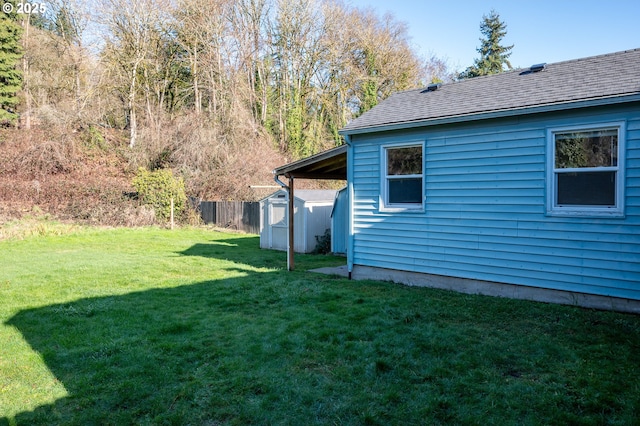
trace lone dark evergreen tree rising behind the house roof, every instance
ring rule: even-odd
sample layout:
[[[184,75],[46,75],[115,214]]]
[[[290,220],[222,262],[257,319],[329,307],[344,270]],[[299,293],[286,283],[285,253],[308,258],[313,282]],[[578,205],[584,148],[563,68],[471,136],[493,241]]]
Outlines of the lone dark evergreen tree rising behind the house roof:
[[[507,34],[507,24],[500,21],[500,15],[492,10],[489,16],[482,17],[480,32],[484,38],[480,39],[480,47],[477,49],[480,58],[474,64],[458,75],[459,79],[478,77],[481,75],[499,74],[507,69],[512,69],[509,62],[511,46],[502,46],[500,41]]]

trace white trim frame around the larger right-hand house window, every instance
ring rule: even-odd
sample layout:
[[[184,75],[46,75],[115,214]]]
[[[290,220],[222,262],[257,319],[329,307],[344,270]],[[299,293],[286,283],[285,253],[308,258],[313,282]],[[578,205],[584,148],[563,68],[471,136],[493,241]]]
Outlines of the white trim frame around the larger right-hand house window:
[[[626,153],[626,123],[624,121],[585,124],[547,129],[547,214],[550,216],[575,217],[624,217],[625,194],[625,153]],[[558,206],[556,200],[556,168],[555,168],[555,134],[572,131],[589,130],[618,130],[618,165],[616,167],[594,167],[594,171],[616,172],[616,204],[615,206]],[[574,169],[562,169],[570,172]],[[575,171],[584,171],[584,168]]]

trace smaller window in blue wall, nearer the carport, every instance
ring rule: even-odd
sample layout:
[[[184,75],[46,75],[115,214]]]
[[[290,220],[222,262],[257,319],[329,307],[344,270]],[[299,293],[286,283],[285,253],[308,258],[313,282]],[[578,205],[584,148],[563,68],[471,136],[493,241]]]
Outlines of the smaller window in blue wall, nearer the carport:
[[[383,147],[383,209],[422,209],[422,150],[422,144]]]

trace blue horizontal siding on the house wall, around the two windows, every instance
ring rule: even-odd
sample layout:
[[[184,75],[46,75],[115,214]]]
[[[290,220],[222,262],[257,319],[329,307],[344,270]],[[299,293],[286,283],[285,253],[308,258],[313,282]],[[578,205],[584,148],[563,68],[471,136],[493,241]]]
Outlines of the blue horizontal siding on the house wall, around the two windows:
[[[640,299],[640,108],[354,138],[355,264]],[[546,215],[547,129],[625,121],[624,218]],[[380,146],[425,142],[425,209],[381,212]]]

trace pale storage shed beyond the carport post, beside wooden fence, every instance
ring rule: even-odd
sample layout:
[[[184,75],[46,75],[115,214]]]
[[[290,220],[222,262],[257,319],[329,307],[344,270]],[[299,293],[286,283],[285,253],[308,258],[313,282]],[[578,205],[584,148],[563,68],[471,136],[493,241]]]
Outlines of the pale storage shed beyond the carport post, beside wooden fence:
[[[311,253],[331,229],[335,190],[297,190],[294,196],[294,251]],[[278,190],[260,201],[260,248],[286,250],[288,241],[287,191]]]

